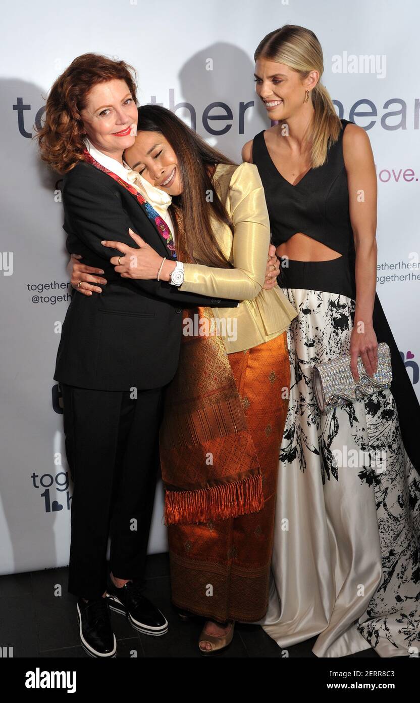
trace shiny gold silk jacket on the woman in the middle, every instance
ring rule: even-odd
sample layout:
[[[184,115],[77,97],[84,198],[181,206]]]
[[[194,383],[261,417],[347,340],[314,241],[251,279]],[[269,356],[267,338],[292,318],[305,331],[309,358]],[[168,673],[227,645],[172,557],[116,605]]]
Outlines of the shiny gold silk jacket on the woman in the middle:
[[[226,352],[231,354],[278,337],[297,316],[297,311],[278,285],[271,290],[262,288],[270,224],[257,167],[246,162],[239,166],[219,164],[212,181],[231,217],[234,234],[227,225],[217,221],[213,231],[234,269],[184,264],[184,281],[179,290],[242,301],[237,308],[212,308],[215,318],[221,321],[219,333]],[[198,256],[195,251],[193,254]],[[226,325],[226,320],[230,326]],[[232,334],[233,329],[236,335]]]

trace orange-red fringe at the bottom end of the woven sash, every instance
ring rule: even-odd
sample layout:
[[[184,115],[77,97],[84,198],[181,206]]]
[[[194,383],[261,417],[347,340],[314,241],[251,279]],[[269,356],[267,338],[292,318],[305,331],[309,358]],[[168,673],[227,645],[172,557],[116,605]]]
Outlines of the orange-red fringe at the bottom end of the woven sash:
[[[165,525],[226,520],[264,508],[262,474],[197,491],[165,491]]]

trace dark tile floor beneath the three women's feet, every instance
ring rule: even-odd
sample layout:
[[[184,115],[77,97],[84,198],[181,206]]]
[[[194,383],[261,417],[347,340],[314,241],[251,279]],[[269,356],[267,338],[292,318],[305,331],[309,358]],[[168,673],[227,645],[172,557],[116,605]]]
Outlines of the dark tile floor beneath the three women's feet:
[[[62,595],[55,595],[60,592]],[[160,607],[169,621],[162,637],[137,633],[121,615],[112,612],[117,657],[198,657],[199,618],[183,622],[170,602],[168,554],[149,555],[145,595]],[[79,644],[76,597],[67,593],[67,568],[45,569],[0,576],[2,645],[13,647],[13,657],[83,657]],[[316,638],[288,648],[288,656],[311,657]],[[258,625],[236,624],[233,642],[223,658],[282,657],[280,647]],[[365,650],[352,657],[377,657]]]

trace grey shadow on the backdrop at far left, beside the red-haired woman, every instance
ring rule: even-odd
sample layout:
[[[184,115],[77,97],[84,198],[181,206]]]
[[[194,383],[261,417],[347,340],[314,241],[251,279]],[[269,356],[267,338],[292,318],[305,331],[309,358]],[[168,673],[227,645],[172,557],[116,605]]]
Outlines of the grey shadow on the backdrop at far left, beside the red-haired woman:
[[[41,162],[32,138],[34,122],[39,124],[43,114],[45,95],[46,90],[32,82],[14,77],[0,82],[2,249],[13,252],[15,259],[13,276],[0,280],[1,297],[6,301],[0,568],[8,573],[57,565],[57,540],[66,529],[61,516],[46,516],[41,497],[50,485],[50,476],[67,470],[64,447],[57,440],[49,377],[43,382],[44,359],[49,368],[50,340],[56,339],[51,330],[57,313],[53,307],[34,306],[27,290],[28,283],[60,280],[57,254],[65,252],[62,207],[54,202],[60,176]],[[54,465],[57,451],[62,451],[62,466]],[[41,476],[45,476],[42,485]],[[60,497],[55,484],[50,496],[51,505]]]

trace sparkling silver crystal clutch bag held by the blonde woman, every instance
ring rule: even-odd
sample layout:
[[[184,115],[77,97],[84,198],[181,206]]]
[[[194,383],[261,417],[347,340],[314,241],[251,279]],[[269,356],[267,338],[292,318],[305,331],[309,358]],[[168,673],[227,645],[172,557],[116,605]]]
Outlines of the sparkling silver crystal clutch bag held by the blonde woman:
[[[321,413],[329,413],[346,403],[363,400],[377,390],[388,388],[392,381],[391,354],[386,342],[378,344],[378,365],[368,376],[361,357],[358,357],[359,381],[355,381],[350,368],[350,354],[337,359],[316,363],[312,370],[313,391]]]

